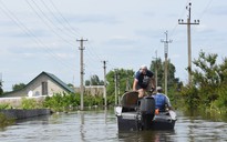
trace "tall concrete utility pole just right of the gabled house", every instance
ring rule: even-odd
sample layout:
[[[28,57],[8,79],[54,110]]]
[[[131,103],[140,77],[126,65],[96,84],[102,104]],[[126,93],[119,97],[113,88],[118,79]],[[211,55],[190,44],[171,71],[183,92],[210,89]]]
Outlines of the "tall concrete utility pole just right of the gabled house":
[[[83,75],[84,75],[84,68],[83,68],[83,50],[85,50],[85,48],[83,47],[83,42],[87,41],[84,40],[83,38],[81,38],[80,40],[76,40],[81,43],[81,47],[79,48],[79,50],[81,50],[81,111],[83,111],[83,92],[84,92],[84,87],[83,87]]]

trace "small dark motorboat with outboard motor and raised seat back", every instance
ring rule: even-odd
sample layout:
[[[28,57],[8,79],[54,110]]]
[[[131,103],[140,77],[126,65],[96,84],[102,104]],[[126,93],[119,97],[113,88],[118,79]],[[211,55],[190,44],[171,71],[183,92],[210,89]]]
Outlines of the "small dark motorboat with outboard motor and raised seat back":
[[[157,112],[152,94],[138,99],[135,91],[122,95],[115,115],[120,131],[174,130],[177,120],[173,110]]]

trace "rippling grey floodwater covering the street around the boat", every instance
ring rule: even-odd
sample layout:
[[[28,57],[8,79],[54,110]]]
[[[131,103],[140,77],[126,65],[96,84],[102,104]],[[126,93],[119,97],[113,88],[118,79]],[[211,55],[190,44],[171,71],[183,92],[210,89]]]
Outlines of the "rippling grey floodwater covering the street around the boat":
[[[0,130],[0,142],[223,142],[227,123],[177,112],[173,131],[118,132],[111,110],[59,113],[18,121]]]

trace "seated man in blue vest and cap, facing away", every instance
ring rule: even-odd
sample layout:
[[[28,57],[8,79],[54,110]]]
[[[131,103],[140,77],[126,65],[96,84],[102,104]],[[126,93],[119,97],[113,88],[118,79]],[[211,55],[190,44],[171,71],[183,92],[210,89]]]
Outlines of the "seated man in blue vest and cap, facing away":
[[[158,112],[164,112],[166,111],[167,105],[167,109],[172,110],[169,99],[167,95],[163,94],[163,89],[161,87],[157,87],[156,90],[157,93],[153,95],[155,99],[155,109],[158,110]]]

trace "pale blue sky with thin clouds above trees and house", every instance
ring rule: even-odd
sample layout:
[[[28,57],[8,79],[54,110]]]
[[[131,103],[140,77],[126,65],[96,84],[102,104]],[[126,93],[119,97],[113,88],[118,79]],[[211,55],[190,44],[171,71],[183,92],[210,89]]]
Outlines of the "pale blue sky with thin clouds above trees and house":
[[[168,58],[176,77],[187,81],[186,6],[192,2],[193,59],[200,50],[226,57],[227,2],[225,0],[0,0],[0,72],[3,90],[28,83],[42,71],[65,83],[80,84],[80,42],[84,42],[84,80],[92,74],[103,79],[115,68],[149,67],[157,57],[164,60],[165,31]]]

